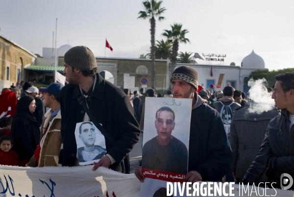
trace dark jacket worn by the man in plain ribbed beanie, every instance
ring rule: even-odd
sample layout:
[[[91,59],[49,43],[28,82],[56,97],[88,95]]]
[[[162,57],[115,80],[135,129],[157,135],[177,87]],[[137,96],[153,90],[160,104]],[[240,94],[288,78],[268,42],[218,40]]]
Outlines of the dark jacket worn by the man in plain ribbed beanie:
[[[86,99],[90,111],[102,127],[109,132],[116,143],[106,140],[106,150],[116,162],[110,165],[112,170],[129,173],[128,153],[140,138],[140,129],[136,121],[129,97],[124,92],[105,81],[97,74],[97,82],[91,95]],[[60,94],[61,137],[63,150],[59,154],[62,166],[73,166],[76,159],[75,126],[83,122],[85,111],[79,105],[77,97],[81,91],[77,85],[66,85]],[[91,121],[91,119],[90,119]]]

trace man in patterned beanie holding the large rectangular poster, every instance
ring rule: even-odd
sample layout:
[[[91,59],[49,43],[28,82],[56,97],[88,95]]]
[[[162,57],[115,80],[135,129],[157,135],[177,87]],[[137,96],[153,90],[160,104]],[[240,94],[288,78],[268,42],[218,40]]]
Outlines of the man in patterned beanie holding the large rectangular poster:
[[[176,68],[170,81],[174,98],[192,99],[188,174],[184,181],[220,181],[230,170],[232,161],[221,116],[197,95],[198,73],[194,68]],[[143,182],[145,176],[141,169],[138,167],[135,175]]]

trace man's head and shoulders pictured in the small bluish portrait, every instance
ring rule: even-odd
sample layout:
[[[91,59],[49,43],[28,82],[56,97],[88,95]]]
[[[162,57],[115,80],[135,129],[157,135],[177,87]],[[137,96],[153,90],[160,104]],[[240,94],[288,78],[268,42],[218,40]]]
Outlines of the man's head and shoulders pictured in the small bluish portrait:
[[[77,149],[79,162],[100,159],[105,155],[106,150],[95,145],[96,131],[91,122],[83,122],[79,127],[79,138],[85,144],[84,147]]]

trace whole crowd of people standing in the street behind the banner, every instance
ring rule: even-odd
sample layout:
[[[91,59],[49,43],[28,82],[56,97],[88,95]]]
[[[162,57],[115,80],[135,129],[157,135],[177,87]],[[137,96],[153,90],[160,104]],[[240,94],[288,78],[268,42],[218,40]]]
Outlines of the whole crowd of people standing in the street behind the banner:
[[[13,100],[7,103],[15,107],[0,119],[0,164],[78,166],[75,127],[91,121],[106,144],[106,154],[93,163],[92,170],[103,166],[128,174],[128,153],[144,131],[145,98],[190,98],[185,181],[276,182],[273,186],[279,188],[283,173],[294,176],[294,73],[277,75],[273,89],[263,87],[262,91],[271,92],[275,107],[257,113],[250,112],[254,105],[250,95],[247,98],[240,90],[198,86],[198,73],[189,66],[172,72],[172,89],[165,95],[154,89],[130,94],[129,89],[104,80],[86,46],[71,48],[64,56],[64,66],[66,86],[52,83],[38,89],[22,82],[2,90],[1,95]],[[135,175],[144,181],[139,164]]]

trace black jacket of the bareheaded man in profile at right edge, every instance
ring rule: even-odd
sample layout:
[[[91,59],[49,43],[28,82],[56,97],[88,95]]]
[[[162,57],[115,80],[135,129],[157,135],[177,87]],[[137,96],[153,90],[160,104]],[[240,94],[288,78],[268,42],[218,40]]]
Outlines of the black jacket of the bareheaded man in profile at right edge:
[[[265,170],[270,182],[280,185],[280,176],[290,174],[294,178],[294,126],[289,131],[289,111],[270,120],[260,151],[247,170],[244,179],[256,183]]]

